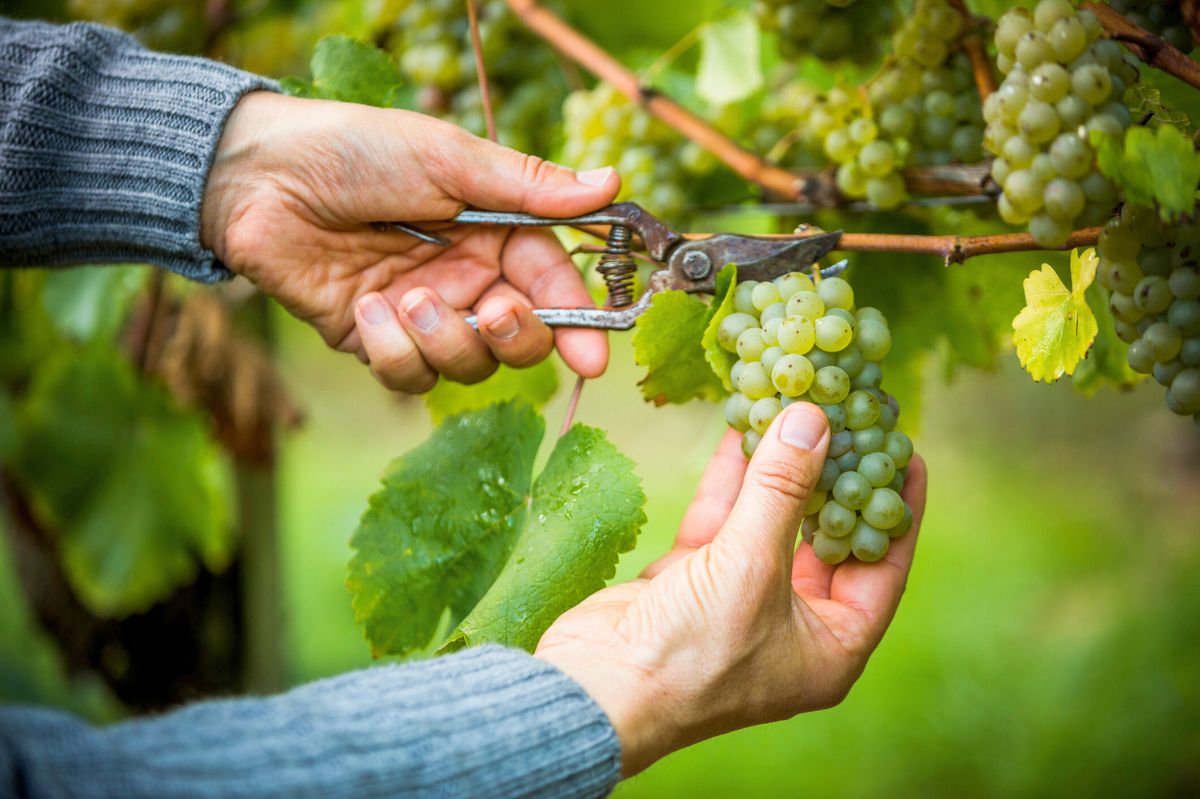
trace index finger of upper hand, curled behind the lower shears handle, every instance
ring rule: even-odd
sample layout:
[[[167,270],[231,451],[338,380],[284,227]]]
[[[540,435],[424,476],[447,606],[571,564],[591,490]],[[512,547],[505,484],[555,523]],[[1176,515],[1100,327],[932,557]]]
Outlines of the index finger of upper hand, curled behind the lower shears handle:
[[[595,307],[580,270],[548,230],[514,230],[500,254],[500,271],[534,307]],[[608,336],[602,330],[558,328],[554,347],[581,377],[600,377],[608,366]]]

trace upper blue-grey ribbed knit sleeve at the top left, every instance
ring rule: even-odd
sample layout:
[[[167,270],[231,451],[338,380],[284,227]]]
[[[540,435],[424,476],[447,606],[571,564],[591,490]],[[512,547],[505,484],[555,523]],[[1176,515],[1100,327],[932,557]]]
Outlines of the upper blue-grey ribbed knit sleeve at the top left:
[[[0,18],[0,266],[229,277],[200,246],[204,182],[238,100],[274,88],[108,28]]]

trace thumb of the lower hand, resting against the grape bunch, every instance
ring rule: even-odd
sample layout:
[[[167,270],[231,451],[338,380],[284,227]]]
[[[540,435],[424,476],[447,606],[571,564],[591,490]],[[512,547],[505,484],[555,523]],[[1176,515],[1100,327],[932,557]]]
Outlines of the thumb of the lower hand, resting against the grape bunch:
[[[821,477],[829,421],[808,402],[780,411],[746,468],[742,493],[721,530],[755,557],[791,563],[804,506]]]

